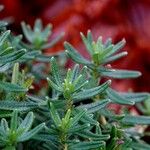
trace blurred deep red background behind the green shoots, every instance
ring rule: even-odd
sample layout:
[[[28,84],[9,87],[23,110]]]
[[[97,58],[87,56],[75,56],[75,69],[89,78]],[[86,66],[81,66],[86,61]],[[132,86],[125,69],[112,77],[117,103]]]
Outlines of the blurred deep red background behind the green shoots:
[[[65,32],[65,36],[47,53],[63,50],[63,41],[73,44],[86,55],[79,32],[90,29],[96,39],[111,37],[113,42],[127,41],[128,56],[113,63],[115,68],[134,69],[142,76],[134,80],[115,80],[113,86],[120,91],[150,92],[150,0],[0,0],[5,9],[0,18],[11,22],[14,34],[22,33],[20,22],[33,25],[35,19],[53,25],[52,38]]]

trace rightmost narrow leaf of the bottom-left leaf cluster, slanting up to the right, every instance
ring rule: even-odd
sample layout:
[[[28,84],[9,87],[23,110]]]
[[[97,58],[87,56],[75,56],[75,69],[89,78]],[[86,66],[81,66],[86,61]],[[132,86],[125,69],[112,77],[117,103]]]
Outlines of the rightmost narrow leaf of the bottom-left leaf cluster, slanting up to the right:
[[[43,128],[45,127],[45,123],[41,123],[38,126],[36,126],[35,128],[33,128],[32,130],[24,133],[23,135],[21,135],[18,138],[18,142],[23,142],[23,141],[27,141],[30,138],[32,138],[33,136],[35,136],[35,134],[37,134],[39,131],[41,131]]]

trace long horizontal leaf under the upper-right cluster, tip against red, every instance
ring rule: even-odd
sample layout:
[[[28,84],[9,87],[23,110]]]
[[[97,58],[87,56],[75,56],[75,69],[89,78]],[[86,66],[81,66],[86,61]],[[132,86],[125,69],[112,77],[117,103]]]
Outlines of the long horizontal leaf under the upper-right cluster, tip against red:
[[[129,70],[120,70],[120,69],[104,69],[100,68],[99,73],[101,76],[111,77],[115,79],[128,79],[128,78],[137,78],[141,76],[139,71],[129,71]]]

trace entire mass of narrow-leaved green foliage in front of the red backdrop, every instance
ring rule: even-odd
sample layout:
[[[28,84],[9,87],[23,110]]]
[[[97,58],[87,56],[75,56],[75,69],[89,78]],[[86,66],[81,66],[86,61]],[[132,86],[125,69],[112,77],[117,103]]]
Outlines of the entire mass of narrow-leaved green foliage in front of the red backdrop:
[[[119,52],[124,39],[117,44],[111,39],[103,42],[101,37],[94,41],[88,31],[87,37],[81,33],[81,38],[90,60],[68,42],[64,43],[65,53],[46,56],[43,50],[62,37],[60,34],[48,42],[50,25],[43,29],[38,19],[32,30],[23,22],[27,42],[14,36],[6,25],[0,22],[1,149],[150,149],[143,138],[150,125],[149,93],[116,91],[108,79],[141,75],[138,71],[106,67],[127,55]],[[65,54],[77,63],[72,68],[66,69],[61,63],[66,60]],[[104,78],[108,80],[102,82]],[[47,85],[42,85],[41,80]],[[36,89],[37,85],[40,89]],[[112,103],[121,106],[121,113],[109,108]],[[129,105],[135,105],[143,115],[132,115]]]

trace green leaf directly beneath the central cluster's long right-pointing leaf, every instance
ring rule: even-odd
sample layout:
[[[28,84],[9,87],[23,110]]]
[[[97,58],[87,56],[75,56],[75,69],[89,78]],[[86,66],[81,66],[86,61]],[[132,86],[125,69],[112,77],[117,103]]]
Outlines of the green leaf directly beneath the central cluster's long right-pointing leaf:
[[[106,107],[110,103],[109,99],[96,101],[90,104],[81,105],[79,108],[86,108],[88,113],[94,113],[104,107]]]

